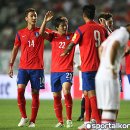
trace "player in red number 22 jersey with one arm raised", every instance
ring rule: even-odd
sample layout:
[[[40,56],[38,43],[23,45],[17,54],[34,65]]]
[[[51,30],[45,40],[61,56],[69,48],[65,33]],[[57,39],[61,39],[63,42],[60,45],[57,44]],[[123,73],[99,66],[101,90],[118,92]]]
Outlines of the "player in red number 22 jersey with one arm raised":
[[[52,45],[52,62],[51,62],[51,90],[54,97],[54,110],[58,119],[58,124],[55,127],[64,127],[62,115],[61,92],[63,90],[66,106],[66,127],[70,128],[72,124],[72,97],[71,85],[73,77],[73,57],[74,51],[65,57],[60,54],[64,52],[67,45],[73,36],[73,33],[68,33],[68,21],[65,17],[57,17],[54,21],[56,31],[46,32],[46,24],[52,19],[52,12],[48,11],[45,14],[43,23],[40,28],[40,34],[51,42]]]

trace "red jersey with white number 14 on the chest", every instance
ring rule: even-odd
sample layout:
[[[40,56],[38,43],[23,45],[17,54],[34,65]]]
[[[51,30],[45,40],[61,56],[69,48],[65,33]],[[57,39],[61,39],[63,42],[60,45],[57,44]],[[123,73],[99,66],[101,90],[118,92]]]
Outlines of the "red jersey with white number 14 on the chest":
[[[39,28],[21,29],[15,37],[16,46],[21,46],[20,69],[43,69],[44,39],[39,35]]]

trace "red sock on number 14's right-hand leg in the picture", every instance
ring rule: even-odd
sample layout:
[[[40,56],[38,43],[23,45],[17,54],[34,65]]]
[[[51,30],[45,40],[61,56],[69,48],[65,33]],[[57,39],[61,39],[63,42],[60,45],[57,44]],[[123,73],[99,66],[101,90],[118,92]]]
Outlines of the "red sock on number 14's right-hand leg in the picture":
[[[32,113],[30,122],[35,123],[39,108],[39,94],[32,94]]]

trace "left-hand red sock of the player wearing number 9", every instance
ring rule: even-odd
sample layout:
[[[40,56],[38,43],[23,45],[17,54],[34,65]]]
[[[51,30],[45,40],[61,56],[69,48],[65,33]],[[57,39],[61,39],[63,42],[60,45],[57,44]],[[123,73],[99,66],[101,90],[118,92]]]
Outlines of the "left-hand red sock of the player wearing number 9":
[[[89,100],[88,96],[85,96],[85,112],[86,112],[85,121],[90,121],[90,118],[91,118],[91,106],[90,106],[90,100]]]

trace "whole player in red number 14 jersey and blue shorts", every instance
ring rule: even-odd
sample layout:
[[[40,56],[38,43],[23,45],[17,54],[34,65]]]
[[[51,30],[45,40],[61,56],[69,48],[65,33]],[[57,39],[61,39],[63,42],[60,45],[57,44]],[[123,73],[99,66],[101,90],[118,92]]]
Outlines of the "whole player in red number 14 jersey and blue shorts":
[[[17,76],[18,86],[18,107],[21,113],[19,127],[25,126],[28,122],[26,114],[26,100],[24,97],[25,88],[30,81],[32,90],[32,111],[28,127],[35,127],[35,121],[39,109],[39,90],[44,89],[44,38],[39,35],[36,27],[37,13],[33,8],[25,11],[27,27],[16,33],[14,47],[10,58],[9,76],[13,77],[13,65],[21,47],[21,57]]]

